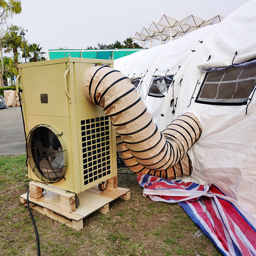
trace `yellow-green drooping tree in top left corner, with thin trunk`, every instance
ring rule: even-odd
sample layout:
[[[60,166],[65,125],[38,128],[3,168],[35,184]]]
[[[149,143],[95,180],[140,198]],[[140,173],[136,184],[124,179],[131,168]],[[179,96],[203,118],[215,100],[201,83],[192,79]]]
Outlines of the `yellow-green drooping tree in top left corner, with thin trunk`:
[[[0,25],[6,23],[7,18],[12,18],[14,14],[21,12],[21,1],[20,0],[0,0]],[[0,66],[0,87],[3,87],[3,51],[2,51],[2,39],[3,35],[0,34],[0,53],[1,53],[1,66]]]

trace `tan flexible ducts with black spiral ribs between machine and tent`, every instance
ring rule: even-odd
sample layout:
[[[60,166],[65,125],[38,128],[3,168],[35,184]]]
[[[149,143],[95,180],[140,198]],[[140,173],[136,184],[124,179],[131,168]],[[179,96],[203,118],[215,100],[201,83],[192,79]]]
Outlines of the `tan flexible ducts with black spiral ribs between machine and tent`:
[[[134,173],[166,179],[191,174],[187,151],[201,135],[194,114],[179,116],[161,133],[129,78],[109,66],[88,68],[82,90],[89,102],[103,107],[110,117],[117,152]]]

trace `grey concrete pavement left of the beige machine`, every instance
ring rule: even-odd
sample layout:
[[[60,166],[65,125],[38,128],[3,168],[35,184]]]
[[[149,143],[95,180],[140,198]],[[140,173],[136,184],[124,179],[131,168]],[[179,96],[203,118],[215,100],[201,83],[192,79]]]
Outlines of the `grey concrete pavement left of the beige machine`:
[[[20,107],[0,109],[0,156],[26,154]]]

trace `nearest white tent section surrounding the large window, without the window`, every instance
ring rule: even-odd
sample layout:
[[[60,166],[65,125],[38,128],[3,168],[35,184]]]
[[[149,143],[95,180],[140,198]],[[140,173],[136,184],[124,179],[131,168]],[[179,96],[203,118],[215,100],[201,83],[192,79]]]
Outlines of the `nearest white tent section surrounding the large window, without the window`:
[[[195,99],[206,73],[199,69],[225,67],[232,65],[232,61],[239,64],[255,58],[255,8],[256,1],[250,1],[216,25],[188,65],[181,66],[174,77],[174,88],[180,88],[174,91],[174,98],[178,97],[175,114],[171,113],[169,101],[173,95],[168,91],[161,109],[164,117],[158,121],[162,129],[184,111],[194,113],[203,132],[188,152],[193,173],[184,180],[201,184],[212,182],[252,214],[256,214],[255,89],[245,105],[200,104]],[[182,78],[181,86],[177,77]]]

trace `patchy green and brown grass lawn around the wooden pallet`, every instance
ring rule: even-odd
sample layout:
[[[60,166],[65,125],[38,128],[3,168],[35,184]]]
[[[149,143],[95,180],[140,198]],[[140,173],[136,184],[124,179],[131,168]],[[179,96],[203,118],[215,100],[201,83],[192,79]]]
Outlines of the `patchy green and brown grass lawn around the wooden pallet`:
[[[118,172],[130,172],[121,168]],[[25,155],[0,157],[0,255],[37,255],[36,235],[19,196],[28,189]],[[191,255],[221,253],[181,206],[142,196],[137,175],[118,175],[118,185],[131,189],[131,199],[110,203],[110,212],[95,212],[75,231],[32,209],[41,255]]]

